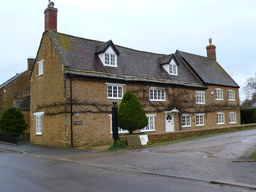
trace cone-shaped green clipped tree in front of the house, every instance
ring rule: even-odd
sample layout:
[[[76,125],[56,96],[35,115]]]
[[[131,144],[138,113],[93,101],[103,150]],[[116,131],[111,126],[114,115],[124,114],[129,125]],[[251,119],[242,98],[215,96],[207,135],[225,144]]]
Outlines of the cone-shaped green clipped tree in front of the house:
[[[118,109],[118,126],[132,134],[147,125],[148,118],[140,101],[132,92],[126,92]]]

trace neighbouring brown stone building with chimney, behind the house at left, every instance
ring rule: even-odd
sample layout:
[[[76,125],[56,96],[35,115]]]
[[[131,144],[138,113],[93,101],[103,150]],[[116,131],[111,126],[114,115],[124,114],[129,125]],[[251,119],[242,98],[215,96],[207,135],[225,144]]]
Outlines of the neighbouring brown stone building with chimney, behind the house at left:
[[[0,117],[3,112],[12,106],[15,93],[26,90],[30,86],[30,73],[35,59],[28,58],[28,69],[17,73],[14,77],[0,85]]]

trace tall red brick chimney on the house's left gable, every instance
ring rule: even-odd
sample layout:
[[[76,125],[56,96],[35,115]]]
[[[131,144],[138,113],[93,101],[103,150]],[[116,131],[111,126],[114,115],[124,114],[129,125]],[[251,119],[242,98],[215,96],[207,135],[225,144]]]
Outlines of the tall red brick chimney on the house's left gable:
[[[49,1],[48,7],[44,10],[44,31],[48,29],[57,31],[57,12],[58,9],[54,8],[54,2]]]

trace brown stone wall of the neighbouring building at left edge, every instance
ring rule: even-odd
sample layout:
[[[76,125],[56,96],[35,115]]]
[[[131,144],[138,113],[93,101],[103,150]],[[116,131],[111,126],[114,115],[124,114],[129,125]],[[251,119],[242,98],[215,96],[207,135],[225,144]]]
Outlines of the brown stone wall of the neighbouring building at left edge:
[[[14,95],[30,86],[30,70],[0,89],[0,117],[3,112],[12,106]]]

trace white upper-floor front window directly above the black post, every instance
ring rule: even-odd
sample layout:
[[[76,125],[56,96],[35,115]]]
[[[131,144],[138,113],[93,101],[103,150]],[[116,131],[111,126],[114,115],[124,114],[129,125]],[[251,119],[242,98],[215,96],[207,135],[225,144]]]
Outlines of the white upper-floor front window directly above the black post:
[[[125,84],[106,83],[108,89],[108,99],[122,99]]]

